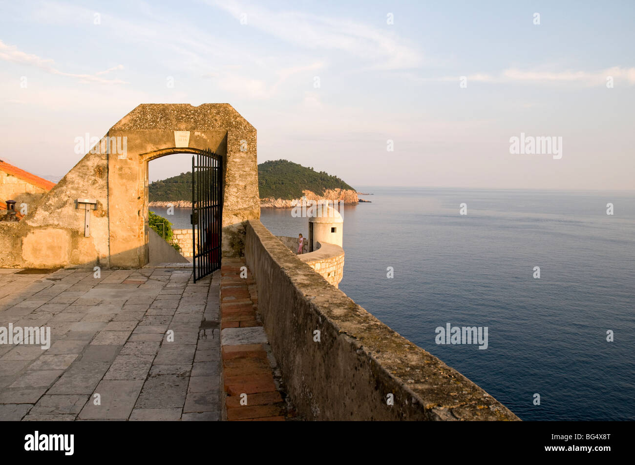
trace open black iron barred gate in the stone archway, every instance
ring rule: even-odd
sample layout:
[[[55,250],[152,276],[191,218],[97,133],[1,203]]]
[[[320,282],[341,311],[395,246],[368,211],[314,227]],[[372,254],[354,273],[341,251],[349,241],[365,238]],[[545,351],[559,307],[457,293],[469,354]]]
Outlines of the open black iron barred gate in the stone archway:
[[[195,160],[196,159],[196,160]],[[220,269],[222,159],[210,149],[192,156],[192,256],[194,282]]]

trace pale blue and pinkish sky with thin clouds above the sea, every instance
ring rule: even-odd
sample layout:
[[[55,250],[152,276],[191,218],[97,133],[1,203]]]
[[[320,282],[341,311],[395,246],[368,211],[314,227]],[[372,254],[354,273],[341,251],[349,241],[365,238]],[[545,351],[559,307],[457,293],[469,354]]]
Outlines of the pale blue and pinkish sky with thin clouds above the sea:
[[[635,190],[634,26],[632,1],[0,1],[0,159],[63,176],[140,103],[227,102],[258,162],[353,186]]]

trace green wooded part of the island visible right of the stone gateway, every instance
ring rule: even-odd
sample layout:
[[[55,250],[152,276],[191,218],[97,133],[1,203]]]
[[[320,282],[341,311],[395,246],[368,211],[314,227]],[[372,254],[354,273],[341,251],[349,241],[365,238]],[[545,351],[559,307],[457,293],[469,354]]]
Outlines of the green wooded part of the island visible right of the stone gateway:
[[[325,171],[317,173],[288,160],[268,161],[258,165],[258,189],[260,198],[299,199],[303,190],[322,195],[326,189],[351,189],[337,176]]]

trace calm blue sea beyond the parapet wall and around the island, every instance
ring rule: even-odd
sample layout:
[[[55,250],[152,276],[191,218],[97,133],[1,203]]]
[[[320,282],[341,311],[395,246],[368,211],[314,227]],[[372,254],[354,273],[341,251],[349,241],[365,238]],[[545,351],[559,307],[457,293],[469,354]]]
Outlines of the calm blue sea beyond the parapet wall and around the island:
[[[635,192],[357,188],[371,202],[340,210],[356,303],[523,420],[635,419]],[[291,209],[261,221],[308,233]],[[440,343],[448,324],[487,347]]]

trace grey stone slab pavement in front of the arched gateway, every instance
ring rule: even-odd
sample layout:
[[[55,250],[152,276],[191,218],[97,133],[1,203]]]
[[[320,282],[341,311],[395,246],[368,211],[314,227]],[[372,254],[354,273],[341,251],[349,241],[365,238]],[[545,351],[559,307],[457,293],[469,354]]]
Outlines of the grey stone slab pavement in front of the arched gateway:
[[[0,420],[220,419],[220,272],[0,269]],[[6,330],[4,330],[6,334]]]

